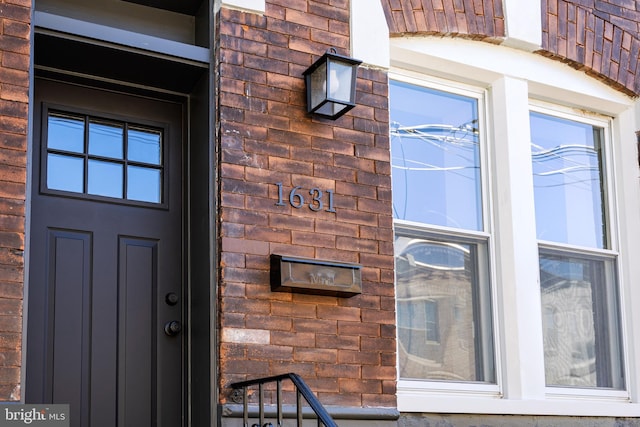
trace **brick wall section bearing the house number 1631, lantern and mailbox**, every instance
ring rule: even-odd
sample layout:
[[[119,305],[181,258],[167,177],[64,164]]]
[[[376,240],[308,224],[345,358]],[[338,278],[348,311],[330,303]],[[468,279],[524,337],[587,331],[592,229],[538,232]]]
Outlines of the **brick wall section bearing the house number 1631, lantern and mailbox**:
[[[348,0],[223,8],[219,26],[222,400],[233,381],[296,372],[325,405],[395,407],[386,73],[361,67],[358,105],[312,119],[302,72],[349,54]],[[334,191],[336,212],[291,207],[294,186]],[[270,254],[359,263],[363,293],[271,292]]]

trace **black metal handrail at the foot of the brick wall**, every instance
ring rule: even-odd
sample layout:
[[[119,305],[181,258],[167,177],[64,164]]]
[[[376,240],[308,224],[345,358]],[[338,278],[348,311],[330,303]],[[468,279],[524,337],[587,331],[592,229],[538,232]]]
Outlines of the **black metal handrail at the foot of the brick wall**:
[[[293,385],[296,387],[296,417],[298,420],[298,427],[302,427],[302,398],[304,398],[304,400],[307,402],[309,407],[311,407],[313,412],[316,414],[316,417],[318,418],[318,427],[320,427],[320,425],[324,425],[325,427],[338,427],[338,425],[335,423],[331,415],[329,415],[325,407],[322,406],[322,403],[320,403],[316,395],[313,394],[313,392],[311,391],[307,383],[304,382],[304,380],[300,377],[300,375],[294,374],[294,373],[276,375],[276,376],[265,377],[265,378],[257,378],[253,380],[241,381],[241,382],[231,384],[231,388],[236,390],[242,389],[242,392],[243,392],[242,405],[243,405],[244,427],[249,427],[249,406],[247,403],[248,401],[247,388],[255,385],[258,386],[258,393],[259,393],[258,399],[259,399],[259,405],[260,405],[260,408],[259,408],[260,427],[263,427],[265,424],[263,385],[266,383],[272,383],[272,382],[275,382],[277,387],[276,398],[277,398],[277,405],[278,405],[278,412],[277,412],[278,427],[282,427],[282,422],[283,422],[282,381],[283,380],[290,380],[293,383]]]

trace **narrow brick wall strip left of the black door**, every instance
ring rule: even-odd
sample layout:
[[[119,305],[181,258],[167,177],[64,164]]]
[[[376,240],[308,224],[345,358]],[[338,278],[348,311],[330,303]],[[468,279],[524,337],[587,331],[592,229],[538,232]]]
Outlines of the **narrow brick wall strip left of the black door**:
[[[0,400],[20,399],[30,0],[0,0]]]

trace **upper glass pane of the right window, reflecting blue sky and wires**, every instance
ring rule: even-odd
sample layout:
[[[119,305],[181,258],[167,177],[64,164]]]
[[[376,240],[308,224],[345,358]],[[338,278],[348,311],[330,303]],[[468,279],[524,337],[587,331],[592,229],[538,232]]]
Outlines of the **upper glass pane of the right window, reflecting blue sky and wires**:
[[[603,129],[531,113],[538,239],[605,248]]]

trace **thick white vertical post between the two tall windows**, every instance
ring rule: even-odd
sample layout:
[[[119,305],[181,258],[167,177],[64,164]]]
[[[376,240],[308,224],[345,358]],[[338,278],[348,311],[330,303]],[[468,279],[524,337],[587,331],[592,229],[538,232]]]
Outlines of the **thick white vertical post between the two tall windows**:
[[[544,398],[538,249],[528,85],[503,77],[491,91],[497,316],[505,397]]]

